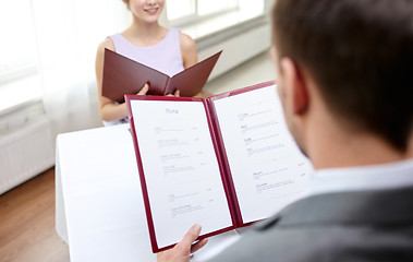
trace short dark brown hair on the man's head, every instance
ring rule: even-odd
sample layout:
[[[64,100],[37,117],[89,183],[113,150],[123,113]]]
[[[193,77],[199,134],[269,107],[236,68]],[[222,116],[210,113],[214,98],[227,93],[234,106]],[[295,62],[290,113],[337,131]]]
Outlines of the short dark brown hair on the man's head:
[[[277,0],[272,41],[329,109],[405,151],[413,129],[413,0]]]

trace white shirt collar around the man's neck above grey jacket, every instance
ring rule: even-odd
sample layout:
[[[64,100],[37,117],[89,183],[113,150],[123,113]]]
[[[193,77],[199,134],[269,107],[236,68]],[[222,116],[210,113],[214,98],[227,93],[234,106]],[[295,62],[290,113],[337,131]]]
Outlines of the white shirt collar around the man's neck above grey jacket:
[[[311,175],[308,195],[413,186],[413,159],[391,164],[320,169]]]

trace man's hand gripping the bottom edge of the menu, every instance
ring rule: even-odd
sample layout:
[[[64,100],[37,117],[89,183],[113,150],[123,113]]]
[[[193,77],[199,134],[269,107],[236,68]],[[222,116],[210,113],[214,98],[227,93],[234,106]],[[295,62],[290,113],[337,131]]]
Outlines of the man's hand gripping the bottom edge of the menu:
[[[205,238],[198,242],[193,242],[198,238],[201,233],[201,225],[195,224],[183,237],[181,242],[177,243],[172,249],[159,252],[157,254],[158,262],[187,262],[191,259],[191,254],[202,249],[208,239]]]

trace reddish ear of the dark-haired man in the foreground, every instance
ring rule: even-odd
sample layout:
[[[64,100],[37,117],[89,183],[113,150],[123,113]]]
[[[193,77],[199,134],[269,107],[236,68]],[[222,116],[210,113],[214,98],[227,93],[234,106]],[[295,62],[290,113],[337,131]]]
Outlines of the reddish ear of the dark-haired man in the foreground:
[[[283,73],[284,87],[288,88],[290,105],[293,112],[303,115],[309,105],[307,84],[300,67],[291,58],[282,58],[280,61]]]

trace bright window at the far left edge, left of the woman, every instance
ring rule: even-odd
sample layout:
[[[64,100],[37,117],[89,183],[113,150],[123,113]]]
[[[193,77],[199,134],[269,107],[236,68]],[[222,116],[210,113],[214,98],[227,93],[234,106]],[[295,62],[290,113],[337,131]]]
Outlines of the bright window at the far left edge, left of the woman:
[[[29,0],[0,1],[0,111],[41,96]]]

